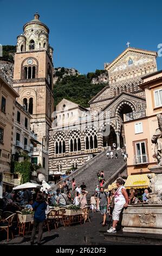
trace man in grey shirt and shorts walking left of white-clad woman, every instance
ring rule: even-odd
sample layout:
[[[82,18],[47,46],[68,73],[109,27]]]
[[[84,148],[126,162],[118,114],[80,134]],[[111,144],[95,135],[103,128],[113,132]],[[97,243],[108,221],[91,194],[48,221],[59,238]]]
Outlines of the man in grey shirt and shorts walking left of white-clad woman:
[[[97,208],[99,207],[99,201],[100,201],[100,211],[103,216],[102,226],[104,227],[106,225],[106,214],[109,208],[109,197],[108,197],[108,193],[103,191],[103,187],[100,187],[100,192],[98,194],[98,200],[97,200]]]

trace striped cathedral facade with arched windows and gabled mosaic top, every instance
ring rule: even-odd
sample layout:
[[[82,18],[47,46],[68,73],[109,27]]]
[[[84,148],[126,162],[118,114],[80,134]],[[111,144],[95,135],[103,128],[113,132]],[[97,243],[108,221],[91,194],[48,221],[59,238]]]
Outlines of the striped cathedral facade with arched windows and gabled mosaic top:
[[[124,118],[132,112],[145,116],[145,92],[139,84],[142,76],[157,71],[156,57],[156,52],[128,47],[105,64],[109,81],[89,108],[66,99],[57,105],[49,131],[49,175],[78,168],[113,143],[126,147]]]

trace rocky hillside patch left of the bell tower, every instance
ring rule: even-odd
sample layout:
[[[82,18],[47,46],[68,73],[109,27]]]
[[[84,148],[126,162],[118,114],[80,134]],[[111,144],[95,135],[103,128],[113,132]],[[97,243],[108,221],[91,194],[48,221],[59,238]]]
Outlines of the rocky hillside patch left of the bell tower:
[[[14,63],[0,60],[0,75],[5,81],[12,84],[14,77]]]

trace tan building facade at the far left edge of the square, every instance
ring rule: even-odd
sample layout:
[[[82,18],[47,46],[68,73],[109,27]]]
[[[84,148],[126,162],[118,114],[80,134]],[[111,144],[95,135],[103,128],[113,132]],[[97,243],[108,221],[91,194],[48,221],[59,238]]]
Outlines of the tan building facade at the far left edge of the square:
[[[3,190],[10,187],[10,164],[13,147],[14,136],[14,112],[15,100],[18,94],[15,90],[5,82],[0,76],[0,196]]]

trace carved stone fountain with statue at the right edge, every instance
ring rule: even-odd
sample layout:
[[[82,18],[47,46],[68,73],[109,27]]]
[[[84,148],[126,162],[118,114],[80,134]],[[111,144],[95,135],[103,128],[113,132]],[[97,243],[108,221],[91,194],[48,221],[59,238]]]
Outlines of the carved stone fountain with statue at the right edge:
[[[123,231],[135,233],[162,234],[162,115],[157,115],[159,128],[152,137],[157,165],[147,174],[151,193],[147,194],[148,204],[128,205],[122,217]]]

